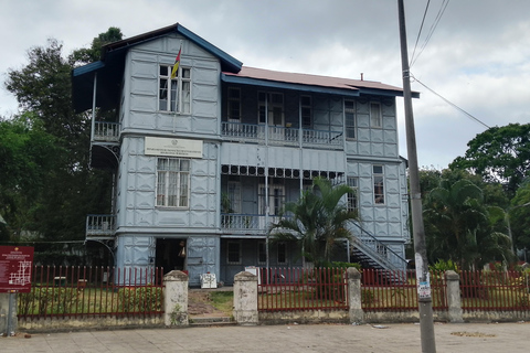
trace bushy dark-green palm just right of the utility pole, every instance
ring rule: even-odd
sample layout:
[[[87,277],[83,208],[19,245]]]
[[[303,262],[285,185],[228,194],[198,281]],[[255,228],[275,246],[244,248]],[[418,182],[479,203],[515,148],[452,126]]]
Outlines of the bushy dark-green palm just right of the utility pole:
[[[468,180],[443,180],[426,197],[424,218],[432,259],[476,269],[494,259],[512,258],[509,237],[500,232],[504,211],[486,206],[483,191]]]

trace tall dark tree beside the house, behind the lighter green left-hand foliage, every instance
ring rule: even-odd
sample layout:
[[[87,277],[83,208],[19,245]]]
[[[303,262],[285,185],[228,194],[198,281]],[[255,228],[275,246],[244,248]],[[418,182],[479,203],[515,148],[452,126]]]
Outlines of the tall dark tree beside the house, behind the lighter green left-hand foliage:
[[[35,229],[44,239],[82,239],[86,214],[109,211],[112,175],[88,167],[92,114],[74,113],[71,72],[74,65],[98,57],[103,44],[120,39],[121,32],[112,28],[94,39],[89,50],[75,51],[68,58],[63,57],[60,42],[50,40],[46,46],[30,49],[25,66],[8,72],[4,85],[17,97],[22,115],[30,115],[42,132],[53,137],[53,149],[43,147],[43,158],[35,162],[34,169],[43,173],[38,176],[19,173],[15,178],[20,185],[36,183],[39,192],[20,189],[21,200],[29,201],[23,210],[19,206],[10,211],[31,214],[28,217],[31,223],[26,222],[24,229]],[[96,114],[107,113],[98,110]],[[44,160],[50,154],[47,151],[54,153],[51,158],[53,169],[43,167],[49,162]],[[0,193],[9,191],[3,185],[0,188]],[[7,207],[3,201],[0,206]]]

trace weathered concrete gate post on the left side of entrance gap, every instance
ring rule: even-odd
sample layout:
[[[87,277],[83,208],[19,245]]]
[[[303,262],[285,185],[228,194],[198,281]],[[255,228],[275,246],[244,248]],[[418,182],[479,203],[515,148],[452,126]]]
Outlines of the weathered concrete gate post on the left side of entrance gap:
[[[187,327],[188,321],[188,275],[172,270],[163,276],[163,323],[167,327]]]

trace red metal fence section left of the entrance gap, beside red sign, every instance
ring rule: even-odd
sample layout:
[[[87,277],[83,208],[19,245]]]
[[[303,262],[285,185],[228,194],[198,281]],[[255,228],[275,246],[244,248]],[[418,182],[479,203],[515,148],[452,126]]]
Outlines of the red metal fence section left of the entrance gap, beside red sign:
[[[20,319],[162,314],[162,268],[34,266]]]

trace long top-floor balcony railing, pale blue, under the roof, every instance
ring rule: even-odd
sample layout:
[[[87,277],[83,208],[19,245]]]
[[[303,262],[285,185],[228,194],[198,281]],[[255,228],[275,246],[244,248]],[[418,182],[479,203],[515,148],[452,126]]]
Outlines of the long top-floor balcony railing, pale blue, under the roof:
[[[235,141],[265,140],[265,128],[268,129],[271,145],[298,146],[300,143],[300,130],[298,128],[279,126],[265,127],[264,125],[223,121],[222,135]],[[342,131],[301,129],[301,145],[333,149],[342,146]]]

